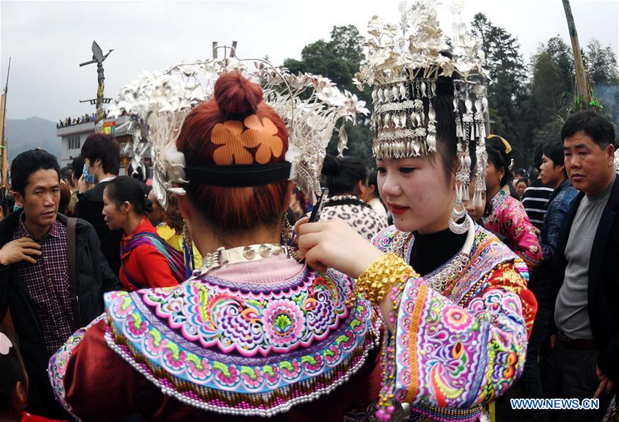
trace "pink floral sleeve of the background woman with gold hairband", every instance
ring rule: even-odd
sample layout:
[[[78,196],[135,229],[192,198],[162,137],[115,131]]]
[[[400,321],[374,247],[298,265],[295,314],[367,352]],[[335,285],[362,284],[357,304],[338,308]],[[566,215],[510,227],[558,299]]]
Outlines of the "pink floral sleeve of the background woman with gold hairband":
[[[542,249],[527,212],[517,200],[513,200],[503,210],[501,234],[510,240],[514,252],[521,257],[530,269],[539,265],[542,260]]]

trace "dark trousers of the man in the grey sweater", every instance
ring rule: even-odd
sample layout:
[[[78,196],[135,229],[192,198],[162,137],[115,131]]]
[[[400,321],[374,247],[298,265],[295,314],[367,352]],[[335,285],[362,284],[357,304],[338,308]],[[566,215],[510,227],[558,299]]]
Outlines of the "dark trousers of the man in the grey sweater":
[[[598,350],[571,350],[563,341],[556,340],[552,355],[549,397],[558,399],[591,399],[600,381],[596,375]],[[598,410],[558,410],[558,421],[601,421],[614,392],[600,397]]]

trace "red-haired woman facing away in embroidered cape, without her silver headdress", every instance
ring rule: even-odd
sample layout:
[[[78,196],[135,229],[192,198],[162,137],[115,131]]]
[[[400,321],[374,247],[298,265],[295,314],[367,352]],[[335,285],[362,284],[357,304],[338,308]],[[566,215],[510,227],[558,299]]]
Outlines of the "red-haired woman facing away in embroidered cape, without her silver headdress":
[[[260,87],[222,74],[176,147],[189,181],[178,206],[204,266],[176,288],[107,295],[107,323],[50,361],[61,403],[86,420],[342,421],[366,408],[380,321],[363,299],[345,306],[353,279],[311,271],[280,243],[288,132]]]

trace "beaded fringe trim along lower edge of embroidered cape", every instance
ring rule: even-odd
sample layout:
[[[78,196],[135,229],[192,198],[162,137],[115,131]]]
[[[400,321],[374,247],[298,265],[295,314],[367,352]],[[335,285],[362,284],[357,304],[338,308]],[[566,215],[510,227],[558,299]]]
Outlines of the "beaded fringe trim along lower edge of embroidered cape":
[[[179,379],[146,359],[133,348],[122,334],[114,328],[109,328],[109,326],[105,331],[105,341],[109,348],[160,388],[163,394],[174,397],[182,403],[221,414],[270,417],[281,412],[287,412],[294,405],[313,401],[346,383],[353,374],[364,366],[370,351],[379,346],[380,326],[380,319],[373,317],[363,343],[350,354],[346,361],[343,361],[331,371],[317,375],[313,379],[306,379],[276,389],[269,394],[242,394],[213,390]],[[193,397],[189,397],[189,395]],[[277,402],[280,403],[275,404]],[[238,405],[244,405],[244,407],[236,407]]]

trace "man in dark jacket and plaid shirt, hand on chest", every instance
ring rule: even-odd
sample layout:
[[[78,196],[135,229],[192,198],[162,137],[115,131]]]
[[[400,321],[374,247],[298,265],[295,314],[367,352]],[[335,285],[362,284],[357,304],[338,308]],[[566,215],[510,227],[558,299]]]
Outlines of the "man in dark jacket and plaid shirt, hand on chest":
[[[30,380],[28,409],[63,418],[48,379],[48,361],[76,328],[101,315],[103,293],[120,289],[120,284],[99,251],[93,227],[77,220],[74,251],[79,312],[74,313],[67,218],[58,213],[58,162],[47,151],[25,151],[12,162],[11,182],[23,211],[0,221],[0,321],[9,310]]]

